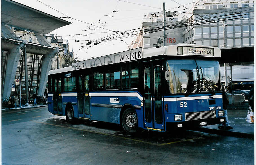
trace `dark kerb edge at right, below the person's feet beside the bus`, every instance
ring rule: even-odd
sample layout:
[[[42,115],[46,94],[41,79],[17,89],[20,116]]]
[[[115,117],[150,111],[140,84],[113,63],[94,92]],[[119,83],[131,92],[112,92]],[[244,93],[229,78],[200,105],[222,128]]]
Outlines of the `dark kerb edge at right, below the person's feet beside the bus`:
[[[251,138],[254,139],[254,134],[245,133],[245,132],[235,132],[233,130],[220,130],[220,129],[212,129],[212,128],[198,128],[198,131],[207,132],[212,134],[219,134],[224,136],[234,136],[234,137],[243,137],[243,138]]]

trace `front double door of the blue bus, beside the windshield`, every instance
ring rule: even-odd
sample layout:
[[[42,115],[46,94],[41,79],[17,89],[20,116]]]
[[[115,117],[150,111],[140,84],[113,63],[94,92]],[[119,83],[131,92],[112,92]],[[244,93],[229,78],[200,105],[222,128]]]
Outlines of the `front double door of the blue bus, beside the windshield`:
[[[164,129],[163,95],[160,62],[144,65],[144,119],[145,127]]]

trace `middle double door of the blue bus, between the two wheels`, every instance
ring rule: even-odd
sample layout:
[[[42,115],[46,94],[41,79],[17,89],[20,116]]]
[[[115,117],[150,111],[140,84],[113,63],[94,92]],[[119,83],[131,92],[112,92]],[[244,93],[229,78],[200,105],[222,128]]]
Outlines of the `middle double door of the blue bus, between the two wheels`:
[[[79,76],[79,118],[90,119],[89,75]]]

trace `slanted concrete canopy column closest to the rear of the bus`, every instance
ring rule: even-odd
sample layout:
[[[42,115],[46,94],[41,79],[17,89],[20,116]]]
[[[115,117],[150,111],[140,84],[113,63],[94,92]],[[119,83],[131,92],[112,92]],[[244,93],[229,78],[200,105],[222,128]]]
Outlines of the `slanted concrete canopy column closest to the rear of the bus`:
[[[59,52],[59,47],[46,54],[41,59],[41,69],[37,88],[37,95],[43,95],[45,92],[46,83],[48,81],[48,72],[51,68],[52,58]]]

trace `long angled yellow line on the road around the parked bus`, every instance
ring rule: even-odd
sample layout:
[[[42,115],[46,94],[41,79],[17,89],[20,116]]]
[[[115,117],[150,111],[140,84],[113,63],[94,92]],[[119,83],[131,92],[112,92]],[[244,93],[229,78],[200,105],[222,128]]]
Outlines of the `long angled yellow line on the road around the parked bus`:
[[[63,125],[56,125],[56,124],[50,124],[50,123],[45,123],[45,122],[37,122],[37,121],[31,121],[31,122],[40,123],[40,124],[46,124],[46,125],[53,125],[53,126],[69,128],[69,129],[76,129],[76,130],[91,132],[91,133],[95,133],[95,134],[101,134],[101,135],[112,136],[112,137],[116,137],[116,138],[132,140],[132,141],[135,141],[134,143],[147,143],[147,144],[151,144],[151,145],[155,145],[155,146],[164,146],[164,145],[173,144],[173,143],[180,143],[180,142],[183,142],[183,141],[191,141],[191,140],[195,140],[195,139],[204,139],[202,137],[198,137],[198,138],[193,138],[193,139],[184,139],[184,140],[181,140],[181,141],[173,141],[173,142],[169,142],[169,143],[156,144],[156,143],[151,143],[151,142],[137,140],[137,139],[125,138],[125,137],[122,137],[122,136],[116,136],[116,135],[110,135],[110,134],[105,134],[105,133],[100,133],[100,132],[93,132],[93,131],[90,131],[90,130],[84,130],[84,129],[73,128],[73,127],[67,127],[67,126],[63,126]]]

